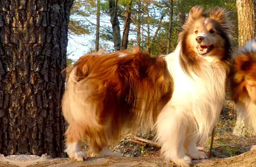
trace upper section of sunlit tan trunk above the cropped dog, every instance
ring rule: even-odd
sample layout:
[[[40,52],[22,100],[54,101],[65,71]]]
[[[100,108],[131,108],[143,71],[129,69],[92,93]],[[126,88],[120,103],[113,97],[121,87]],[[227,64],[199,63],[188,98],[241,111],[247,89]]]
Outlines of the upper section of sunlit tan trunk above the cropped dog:
[[[255,1],[237,0],[238,44],[243,46],[248,40],[255,38]]]

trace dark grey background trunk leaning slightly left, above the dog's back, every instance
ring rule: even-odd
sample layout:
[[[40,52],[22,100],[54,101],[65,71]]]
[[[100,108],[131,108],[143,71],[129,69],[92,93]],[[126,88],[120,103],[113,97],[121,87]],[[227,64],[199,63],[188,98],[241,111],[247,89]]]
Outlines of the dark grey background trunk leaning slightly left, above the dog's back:
[[[113,29],[113,42],[115,50],[121,49],[121,35],[120,27],[117,15],[117,2],[118,0],[109,0],[109,12],[110,12],[110,22]]]

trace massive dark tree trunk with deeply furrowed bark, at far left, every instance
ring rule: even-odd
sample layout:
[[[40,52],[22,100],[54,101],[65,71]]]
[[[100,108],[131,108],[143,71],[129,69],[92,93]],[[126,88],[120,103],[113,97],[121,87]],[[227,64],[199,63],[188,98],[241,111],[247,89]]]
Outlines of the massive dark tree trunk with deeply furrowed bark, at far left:
[[[65,156],[61,97],[72,0],[0,1],[0,153]]]

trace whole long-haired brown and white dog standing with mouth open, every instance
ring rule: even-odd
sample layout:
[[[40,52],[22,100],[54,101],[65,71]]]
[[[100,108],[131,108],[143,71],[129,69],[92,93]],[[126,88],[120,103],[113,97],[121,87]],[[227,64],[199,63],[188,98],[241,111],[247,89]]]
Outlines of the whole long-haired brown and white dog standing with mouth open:
[[[169,55],[121,50],[81,57],[69,72],[62,101],[69,157],[86,158],[83,139],[99,156],[115,156],[109,144],[128,126],[156,130],[161,152],[177,165],[207,158],[196,143],[208,138],[219,119],[230,68],[230,28],[224,9],[196,6]]]

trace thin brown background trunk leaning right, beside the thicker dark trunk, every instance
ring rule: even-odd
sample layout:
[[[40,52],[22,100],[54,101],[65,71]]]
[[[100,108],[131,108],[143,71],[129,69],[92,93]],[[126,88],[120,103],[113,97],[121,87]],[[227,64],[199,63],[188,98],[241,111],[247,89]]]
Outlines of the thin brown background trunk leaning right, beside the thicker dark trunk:
[[[129,37],[129,31],[130,31],[130,22],[131,22],[131,8],[132,8],[132,0],[130,1],[130,4],[126,7],[126,18],[124,21],[124,32],[122,35],[122,49],[127,49],[128,46],[128,37]]]

